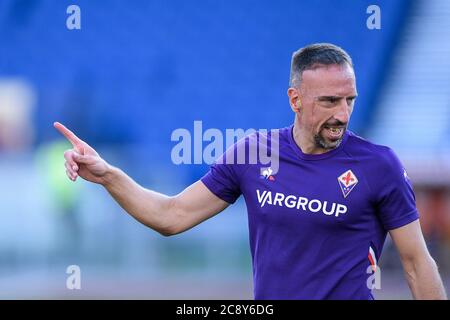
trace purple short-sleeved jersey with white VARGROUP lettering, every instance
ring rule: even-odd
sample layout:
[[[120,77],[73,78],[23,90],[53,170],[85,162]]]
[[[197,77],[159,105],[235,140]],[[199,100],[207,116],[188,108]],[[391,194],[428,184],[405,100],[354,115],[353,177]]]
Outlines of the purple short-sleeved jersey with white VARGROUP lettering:
[[[318,155],[304,154],[292,131],[249,135],[201,179],[228,203],[244,195],[255,299],[373,299],[369,271],[387,231],[419,217],[406,171],[391,149],[350,131]],[[262,135],[278,145],[276,173],[248,157],[224,161]]]

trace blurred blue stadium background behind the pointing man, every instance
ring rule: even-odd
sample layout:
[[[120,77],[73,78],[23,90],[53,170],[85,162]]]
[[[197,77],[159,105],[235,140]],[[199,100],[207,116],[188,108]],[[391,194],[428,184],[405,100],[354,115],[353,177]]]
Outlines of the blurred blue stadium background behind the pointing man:
[[[81,29],[69,30],[69,5]],[[381,9],[370,30],[366,10]],[[450,287],[450,2],[1,0],[0,298],[252,299],[245,203],[165,238],[99,186],[70,182],[66,124],[142,185],[176,194],[171,134],[292,123],[290,59],[314,42],[353,58],[351,129],[392,147]],[[205,146],[206,143],[203,145]],[[382,173],[380,173],[382,174]],[[81,269],[68,290],[66,268]],[[410,299],[390,239],[377,298]]]

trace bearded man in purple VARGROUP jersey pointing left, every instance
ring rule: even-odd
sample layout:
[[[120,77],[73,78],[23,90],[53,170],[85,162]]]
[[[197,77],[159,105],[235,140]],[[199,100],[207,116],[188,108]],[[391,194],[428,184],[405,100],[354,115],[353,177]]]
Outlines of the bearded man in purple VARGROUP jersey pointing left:
[[[292,126],[242,139],[176,196],[142,188],[55,123],[73,144],[64,154],[67,175],[103,185],[130,215],[166,236],[192,228],[243,194],[256,299],[373,299],[368,278],[370,270],[379,272],[387,232],[413,297],[445,299],[406,171],[392,150],[347,130],[357,96],[349,55],[332,44],[295,52],[287,94]],[[276,172],[228,161],[239,146],[260,140],[278,146]]]

